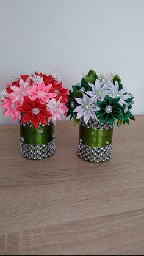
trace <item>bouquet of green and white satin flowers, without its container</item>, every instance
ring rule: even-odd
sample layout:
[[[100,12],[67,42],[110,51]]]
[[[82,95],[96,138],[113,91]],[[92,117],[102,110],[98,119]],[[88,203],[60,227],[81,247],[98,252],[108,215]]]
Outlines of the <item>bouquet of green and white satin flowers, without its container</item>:
[[[135,120],[131,112],[134,97],[123,87],[120,76],[101,74],[98,77],[95,71],[90,70],[81,83],[72,87],[67,116],[74,125],[82,119],[86,125],[90,119],[99,119],[101,124],[108,121],[110,125],[117,120],[118,126],[129,124],[129,119]]]

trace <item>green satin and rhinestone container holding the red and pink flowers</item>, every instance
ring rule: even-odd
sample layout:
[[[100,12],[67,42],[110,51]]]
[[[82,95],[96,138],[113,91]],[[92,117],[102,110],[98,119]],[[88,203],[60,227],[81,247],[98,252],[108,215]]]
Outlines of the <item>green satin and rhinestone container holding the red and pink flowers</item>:
[[[39,123],[35,130],[31,122],[20,122],[20,151],[28,159],[43,159],[53,155],[56,148],[54,137],[54,123],[48,125]]]

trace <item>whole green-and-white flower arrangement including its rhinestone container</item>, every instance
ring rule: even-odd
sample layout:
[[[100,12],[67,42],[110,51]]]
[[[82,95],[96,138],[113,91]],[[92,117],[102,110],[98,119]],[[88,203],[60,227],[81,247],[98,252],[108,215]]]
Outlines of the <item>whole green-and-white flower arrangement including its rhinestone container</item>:
[[[117,126],[135,120],[131,112],[134,97],[123,89],[120,76],[98,76],[93,70],[72,88],[67,116],[79,124],[77,155],[90,162],[107,161],[112,157],[115,120]]]

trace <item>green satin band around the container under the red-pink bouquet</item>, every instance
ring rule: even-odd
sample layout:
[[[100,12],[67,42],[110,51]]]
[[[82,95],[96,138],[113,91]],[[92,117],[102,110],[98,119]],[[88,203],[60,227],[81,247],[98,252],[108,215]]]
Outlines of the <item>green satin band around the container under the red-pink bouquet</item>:
[[[42,133],[39,133],[39,131]],[[36,130],[34,127],[27,127],[20,124],[20,137],[24,138],[24,143],[26,144],[46,144],[54,139],[54,124],[51,123],[47,126],[38,127]]]

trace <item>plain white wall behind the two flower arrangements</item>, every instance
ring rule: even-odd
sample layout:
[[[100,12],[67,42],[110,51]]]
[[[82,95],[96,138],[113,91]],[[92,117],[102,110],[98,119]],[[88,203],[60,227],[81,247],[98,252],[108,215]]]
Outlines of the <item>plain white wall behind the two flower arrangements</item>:
[[[0,0],[0,26],[0,87],[15,73],[57,70],[70,88],[90,68],[112,71],[144,114],[143,0]]]

